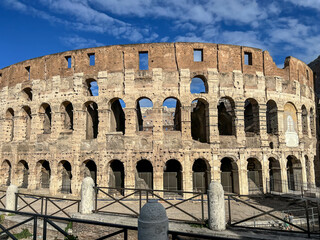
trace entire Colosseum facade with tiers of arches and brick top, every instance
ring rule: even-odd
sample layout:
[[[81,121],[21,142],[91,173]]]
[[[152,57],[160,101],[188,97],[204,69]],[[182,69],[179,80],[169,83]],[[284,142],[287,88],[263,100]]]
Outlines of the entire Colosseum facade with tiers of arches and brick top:
[[[0,70],[1,185],[228,192],[315,184],[313,72],[212,43],[89,48]]]

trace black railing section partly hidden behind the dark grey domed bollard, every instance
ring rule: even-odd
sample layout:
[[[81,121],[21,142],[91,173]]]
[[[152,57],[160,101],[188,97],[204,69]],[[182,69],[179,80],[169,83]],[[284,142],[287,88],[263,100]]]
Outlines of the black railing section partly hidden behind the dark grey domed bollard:
[[[111,187],[95,187],[95,189],[96,201],[94,212],[96,213],[116,213],[138,217],[143,204],[148,202],[149,199],[157,199],[164,205],[169,220],[204,224],[207,219],[207,204],[205,204],[207,195],[205,193]],[[115,194],[117,191],[118,194]],[[124,195],[120,194],[123,192],[125,193]],[[99,199],[98,195],[102,198]],[[164,197],[169,195],[171,197],[176,196],[176,198]],[[182,199],[182,195],[189,196]],[[102,204],[101,202],[103,201],[107,203]],[[184,208],[182,206],[182,204],[191,201],[198,203],[197,209],[190,209],[190,207]],[[99,202],[101,204],[99,204]],[[122,213],[120,213],[120,211],[115,212],[108,210],[110,206],[115,206],[115,204],[119,204],[126,212],[122,211]],[[192,207],[195,208],[196,206],[193,205]],[[175,214],[171,214],[171,210],[175,211]],[[191,210],[194,211],[192,212]]]

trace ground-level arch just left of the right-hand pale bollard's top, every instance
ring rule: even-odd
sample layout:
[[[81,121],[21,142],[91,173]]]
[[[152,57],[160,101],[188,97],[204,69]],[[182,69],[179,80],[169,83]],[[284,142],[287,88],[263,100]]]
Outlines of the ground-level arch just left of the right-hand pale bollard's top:
[[[210,167],[206,160],[201,158],[194,161],[193,172],[193,191],[206,193],[210,184]]]

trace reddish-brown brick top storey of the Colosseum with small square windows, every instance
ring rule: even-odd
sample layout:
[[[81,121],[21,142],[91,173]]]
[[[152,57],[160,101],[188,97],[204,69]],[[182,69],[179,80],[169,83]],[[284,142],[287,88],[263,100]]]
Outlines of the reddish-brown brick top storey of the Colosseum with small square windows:
[[[203,61],[194,62],[193,50],[202,49]],[[54,76],[72,76],[74,73],[96,75],[100,71],[124,72],[125,69],[139,71],[139,52],[148,52],[149,69],[162,68],[177,71],[188,68],[193,76],[204,74],[208,68],[216,68],[221,73],[234,70],[244,74],[263,73],[279,76],[287,81],[298,81],[313,88],[312,70],[302,61],[288,57],[284,69],[273,62],[268,51],[256,48],[213,44],[213,43],[148,43],[116,45],[80,49],[47,55],[13,64],[0,70],[0,88],[17,83],[28,84],[32,80],[47,80]],[[89,55],[95,54],[95,65],[89,65]],[[245,53],[250,54],[252,64],[245,64]],[[68,68],[66,57],[71,57],[72,67]],[[26,68],[30,67],[29,73]]]

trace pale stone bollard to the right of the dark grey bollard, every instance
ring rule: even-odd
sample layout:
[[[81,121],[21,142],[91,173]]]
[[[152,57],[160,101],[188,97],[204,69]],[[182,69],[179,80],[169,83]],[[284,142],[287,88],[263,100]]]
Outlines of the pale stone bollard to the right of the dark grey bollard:
[[[220,182],[213,181],[208,189],[209,228],[223,231],[226,229],[226,209],[224,191]]]

